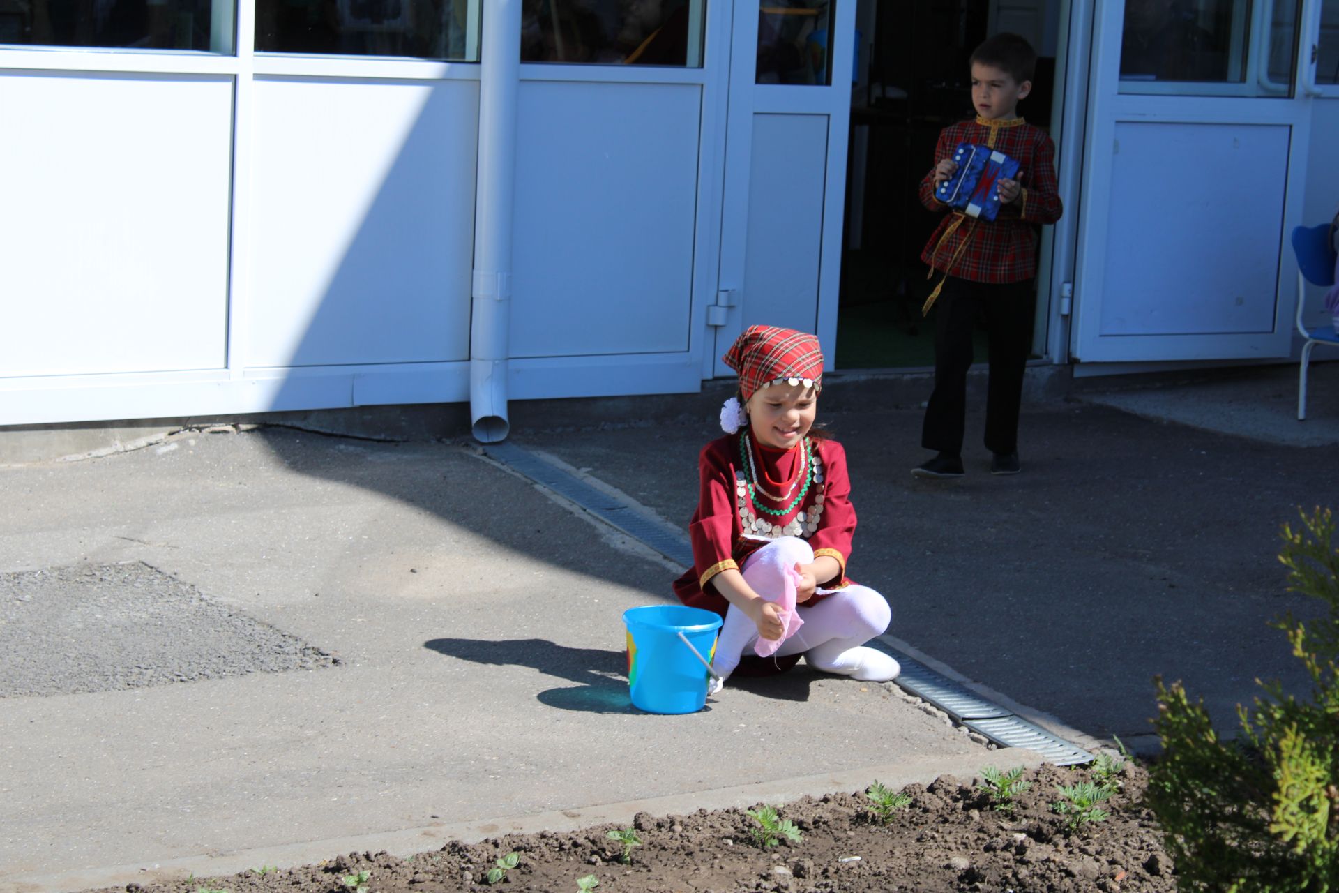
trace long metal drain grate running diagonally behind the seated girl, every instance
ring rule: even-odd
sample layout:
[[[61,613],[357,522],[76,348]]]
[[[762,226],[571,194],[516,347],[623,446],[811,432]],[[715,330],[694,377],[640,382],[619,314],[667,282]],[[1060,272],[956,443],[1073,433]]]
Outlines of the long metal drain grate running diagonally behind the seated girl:
[[[483,453],[623,530],[629,537],[651,546],[671,561],[684,568],[692,566],[692,546],[686,537],[667,530],[664,525],[649,521],[617,497],[592,487],[585,481],[549,465],[509,440],[490,443],[483,447]],[[869,645],[892,655],[902,665],[901,675],[894,680],[898,685],[939,707],[955,722],[986,735],[1000,747],[1035,750],[1056,766],[1093,762],[1093,754],[1086,750],[1019,719],[999,704],[986,700],[957,680],[931,669],[888,643],[874,639]]]

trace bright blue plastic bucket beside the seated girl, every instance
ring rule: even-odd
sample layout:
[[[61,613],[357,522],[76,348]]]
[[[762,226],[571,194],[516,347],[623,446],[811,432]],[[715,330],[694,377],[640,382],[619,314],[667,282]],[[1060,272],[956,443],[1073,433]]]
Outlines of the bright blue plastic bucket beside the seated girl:
[[[649,605],[623,612],[628,628],[628,689],[648,714],[694,714],[707,703],[707,668],[720,616],[684,605]],[[679,633],[698,649],[683,644]]]

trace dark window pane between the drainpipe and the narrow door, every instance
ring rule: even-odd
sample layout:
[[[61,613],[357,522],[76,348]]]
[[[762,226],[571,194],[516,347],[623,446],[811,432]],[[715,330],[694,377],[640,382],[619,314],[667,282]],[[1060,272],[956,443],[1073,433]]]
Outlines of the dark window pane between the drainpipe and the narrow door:
[[[704,0],[525,0],[521,62],[702,66]]]

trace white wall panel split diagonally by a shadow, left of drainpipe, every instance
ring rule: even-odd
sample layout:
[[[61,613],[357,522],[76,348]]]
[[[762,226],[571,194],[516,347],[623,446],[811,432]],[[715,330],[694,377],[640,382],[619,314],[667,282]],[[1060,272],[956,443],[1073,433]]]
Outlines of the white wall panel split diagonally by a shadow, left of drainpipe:
[[[465,360],[478,84],[258,79],[249,367]]]

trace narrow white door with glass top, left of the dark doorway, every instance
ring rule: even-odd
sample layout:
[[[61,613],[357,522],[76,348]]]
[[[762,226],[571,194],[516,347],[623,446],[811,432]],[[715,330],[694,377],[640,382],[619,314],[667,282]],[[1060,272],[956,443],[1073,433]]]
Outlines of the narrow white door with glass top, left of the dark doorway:
[[[854,13],[854,0],[734,4],[708,375],[732,375],[719,357],[755,323],[814,332],[834,353],[850,118],[836,72],[853,67]]]

